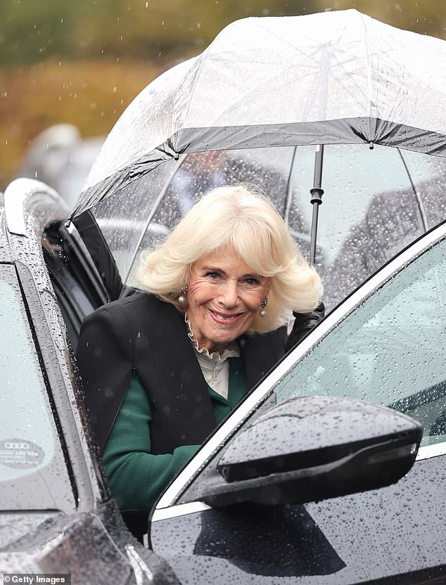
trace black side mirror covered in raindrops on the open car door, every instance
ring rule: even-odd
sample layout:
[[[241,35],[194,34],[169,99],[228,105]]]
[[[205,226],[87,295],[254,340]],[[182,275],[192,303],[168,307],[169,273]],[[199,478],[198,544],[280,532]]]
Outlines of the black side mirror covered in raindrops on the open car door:
[[[200,499],[307,503],[377,489],[412,467],[423,428],[385,406],[298,397],[274,406],[229,441]]]

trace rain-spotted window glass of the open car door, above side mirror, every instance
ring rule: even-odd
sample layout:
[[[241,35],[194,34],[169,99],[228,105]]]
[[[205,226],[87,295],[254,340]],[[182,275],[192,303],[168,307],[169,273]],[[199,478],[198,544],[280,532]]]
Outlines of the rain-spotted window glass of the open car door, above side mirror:
[[[275,387],[371,401],[419,420],[421,446],[446,440],[446,240],[365,300]]]

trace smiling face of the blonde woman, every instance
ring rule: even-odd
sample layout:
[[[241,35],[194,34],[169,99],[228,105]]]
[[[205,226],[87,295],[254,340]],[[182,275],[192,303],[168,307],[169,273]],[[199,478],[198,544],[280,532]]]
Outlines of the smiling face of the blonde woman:
[[[230,250],[210,252],[194,262],[186,310],[198,347],[223,352],[250,328],[268,288],[268,279]]]

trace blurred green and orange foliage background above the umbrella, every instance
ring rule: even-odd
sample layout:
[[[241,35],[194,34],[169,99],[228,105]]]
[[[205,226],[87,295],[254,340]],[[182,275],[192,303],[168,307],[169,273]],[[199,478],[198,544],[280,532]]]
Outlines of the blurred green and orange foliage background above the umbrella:
[[[108,134],[144,86],[233,20],[325,8],[446,39],[445,0],[0,0],[0,189],[39,132]]]

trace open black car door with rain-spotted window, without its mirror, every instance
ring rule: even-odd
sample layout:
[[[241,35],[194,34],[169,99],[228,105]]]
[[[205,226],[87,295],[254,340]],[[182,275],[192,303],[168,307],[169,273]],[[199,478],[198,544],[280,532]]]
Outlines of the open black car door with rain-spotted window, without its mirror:
[[[442,224],[420,238],[322,321],[167,489],[151,545],[182,583],[446,582],[445,235]],[[303,395],[371,401],[418,418],[424,432],[412,470],[388,487],[324,501],[210,505],[205,494],[221,480],[234,437],[272,404]],[[315,427],[315,440],[327,432]]]

